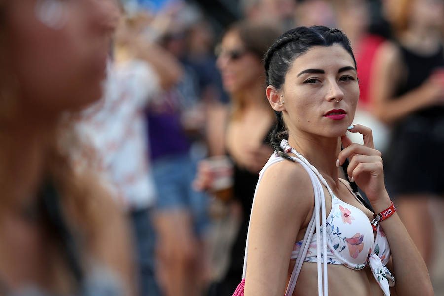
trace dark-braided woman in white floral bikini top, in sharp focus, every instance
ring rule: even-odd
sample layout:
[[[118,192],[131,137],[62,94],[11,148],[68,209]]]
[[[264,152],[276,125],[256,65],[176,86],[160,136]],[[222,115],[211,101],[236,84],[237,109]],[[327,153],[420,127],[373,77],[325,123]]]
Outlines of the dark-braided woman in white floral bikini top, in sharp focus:
[[[349,126],[359,86],[347,37],[327,27],[289,30],[268,50],[265,70],[278,122],[252,208],[245,295],[433,295],[385,189],[371,130]],[[347,130],[362,134],[364,145]],[[382,212],[374,228],[373,213],[338,178],[347,158],[350,180]]]

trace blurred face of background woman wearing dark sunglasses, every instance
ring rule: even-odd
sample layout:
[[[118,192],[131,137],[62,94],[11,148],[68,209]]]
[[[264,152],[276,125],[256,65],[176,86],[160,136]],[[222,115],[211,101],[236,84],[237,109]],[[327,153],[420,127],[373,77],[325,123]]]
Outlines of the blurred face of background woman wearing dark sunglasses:
[[[255,87],[265,76],[262,61],[247,51],[236,31],[229,31],[222,40],[217,66],[222,74],[225,90],[236,94]]]

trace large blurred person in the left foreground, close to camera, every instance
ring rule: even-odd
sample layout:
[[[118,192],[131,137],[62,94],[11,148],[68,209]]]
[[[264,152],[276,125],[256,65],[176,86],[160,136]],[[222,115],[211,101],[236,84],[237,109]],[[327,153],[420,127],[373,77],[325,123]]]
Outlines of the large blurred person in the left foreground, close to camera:
[[[101,97],[117,15],[113,0],[0,0],[0,295],[134,292],[123,216],[74,162],[68,120]]]

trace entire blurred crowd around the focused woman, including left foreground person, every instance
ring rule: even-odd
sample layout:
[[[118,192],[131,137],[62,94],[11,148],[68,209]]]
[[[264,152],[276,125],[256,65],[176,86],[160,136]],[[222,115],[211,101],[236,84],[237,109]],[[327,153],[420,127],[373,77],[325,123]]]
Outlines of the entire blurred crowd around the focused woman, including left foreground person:
[[[273,152],[263,55],[312,25],[351,40],[354,122],[437,269],[444,1],[208,2],[0,0],[0,295],[232,295]]]

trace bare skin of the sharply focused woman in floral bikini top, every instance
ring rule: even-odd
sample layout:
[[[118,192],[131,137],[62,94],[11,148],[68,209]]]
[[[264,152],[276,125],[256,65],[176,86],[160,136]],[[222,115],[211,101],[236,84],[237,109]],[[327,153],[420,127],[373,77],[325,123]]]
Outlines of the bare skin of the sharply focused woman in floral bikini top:
[[[338,72],[343,67],[352,70]],[[298,76],[309,68],[322,69],[325,73]],[[381,153],[374,149],[371,130],[362,125],[355,125],[351,130],[363,135],[364,145],[352,143],[344,135],[353,121],[359,97],[353,69],[352,57],[340,45],[312,47],[294,60],[280,89],[268,86],[267,97],[273,109],[284,114],[290,146],[319,170],[339,199],[361,209],[370,220],[372,213],[338,180],[336,166],[337,160],[342,164],[349,157],[348,174],[367,194],[375,211],[390,206],[383,181]],[[347,112],[344,119],[324,117],[327,111],[339,108]],[[341,143],[345,147],[342,152]],[[326,188],[324,193],[329,196]],[[327,212],[331,207],[330,198],[326,198]],[[293,245],[303,239],[313,208],[312,185],[300,165],[282,161],[267,169],[252,210],[246,296],[284,294],[294,264],[289,262]],[[381,225],[392,252],[393,266],[389,264],[388,268],[396,278],[396,291],[392,289],[391,295],[433,295],[424,261],[397,213]],[[382,296],[370,268],[357,271],[330,264],[327,268],[329,295]],[[417,272],[413,274],[409,270]],[[293,295],[314,295],[316,291],[316,264],[305,262]]]

